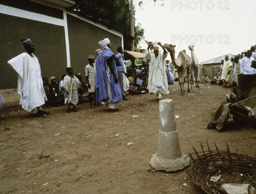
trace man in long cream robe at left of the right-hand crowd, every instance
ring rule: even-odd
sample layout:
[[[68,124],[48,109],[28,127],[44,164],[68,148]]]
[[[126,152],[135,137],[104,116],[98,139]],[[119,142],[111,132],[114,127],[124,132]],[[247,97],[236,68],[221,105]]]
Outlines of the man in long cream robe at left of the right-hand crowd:
[[[225,56],[225,62],[221,72],[221,80],[223,80],[223,88],[230,88],[233,82],[233,64],[228,60],[228,56]]]

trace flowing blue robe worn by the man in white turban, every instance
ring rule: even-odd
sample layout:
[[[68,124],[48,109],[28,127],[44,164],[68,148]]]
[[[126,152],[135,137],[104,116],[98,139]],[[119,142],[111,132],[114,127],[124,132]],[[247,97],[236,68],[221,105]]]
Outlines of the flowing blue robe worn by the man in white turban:
[[[114,62],[115,54],[109,49],[104,49],[96,58],[96,105],[102,100],[109,99],[108,97],[108,75],[106,72],[107,58],[112,56],[112,64],[117,76],[116,64]],[[111,103],[119,103],[122,101],[122,93],[119,83],[115,83],[113,74],[110,72],[110,87],[112,100]]]

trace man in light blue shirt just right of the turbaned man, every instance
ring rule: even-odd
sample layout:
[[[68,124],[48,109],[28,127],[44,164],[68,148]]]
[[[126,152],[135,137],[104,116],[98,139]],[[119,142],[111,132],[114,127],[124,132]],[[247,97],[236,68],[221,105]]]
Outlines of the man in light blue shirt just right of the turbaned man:
[[[116,69],[117,69],[117,74],[118,74],[118,80],[119,80],[119,85],[121,88],[121,93],[122,93],[122,99],[123,100],[128,100],[126,97],[125,91],[124,91],[124,80],[123,80],[123,74],[125,74],[125,63],[122,58],[122,54],[124,54],[123,48],[118,47],[117,48],[117,54],[116,54]]]

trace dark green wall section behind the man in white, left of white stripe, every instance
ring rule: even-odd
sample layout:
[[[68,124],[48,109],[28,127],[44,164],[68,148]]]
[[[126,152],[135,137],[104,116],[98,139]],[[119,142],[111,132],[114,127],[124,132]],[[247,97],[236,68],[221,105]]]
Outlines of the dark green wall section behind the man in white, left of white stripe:
[[[42,77],[59,81],[67,67],[64,27],[0,14],[0,89],[17,88],[17,74],[7,61],[25,52],[23,38],[35,44]]]

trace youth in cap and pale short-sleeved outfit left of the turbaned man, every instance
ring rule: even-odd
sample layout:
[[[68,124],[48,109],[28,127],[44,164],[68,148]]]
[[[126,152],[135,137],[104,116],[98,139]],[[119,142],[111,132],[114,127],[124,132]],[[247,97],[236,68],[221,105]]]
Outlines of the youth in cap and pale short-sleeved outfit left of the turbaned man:
[[[87,81],[87,87],[89,91],[90,108],[95,108],[95,86],[96,86],[96,70],[95,70],[95,59],[93,55],[88,56],[89,64],[85,67],[85,77]],[[94,97],[94,106],[93,106]]]

